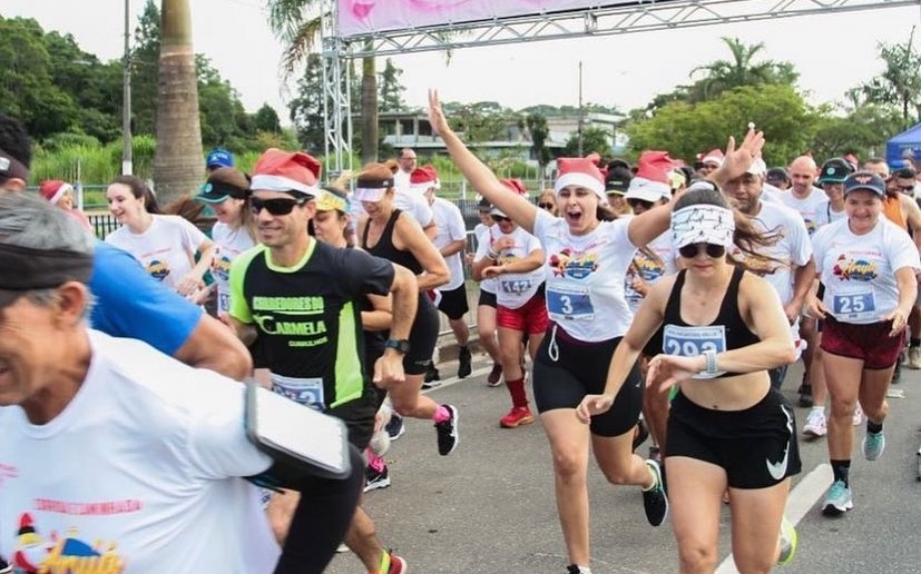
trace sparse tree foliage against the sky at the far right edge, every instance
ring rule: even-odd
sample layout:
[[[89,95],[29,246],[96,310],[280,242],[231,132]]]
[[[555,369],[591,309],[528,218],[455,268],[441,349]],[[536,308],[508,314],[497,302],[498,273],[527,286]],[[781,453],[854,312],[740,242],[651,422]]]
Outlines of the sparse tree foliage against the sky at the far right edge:
[[[880,43],[885,69],[860,87],[869,103],[892,106],[901,113],[901,129],[921,119],[921,52],[914,47],[914,28],[905,43]]]

